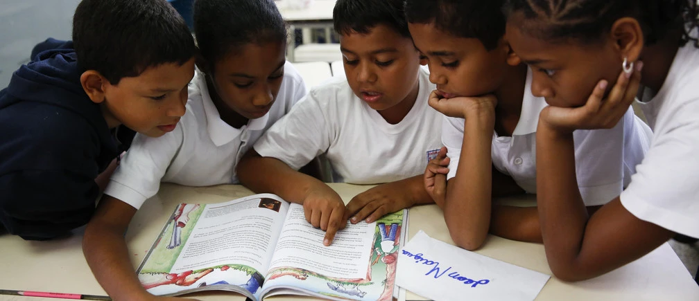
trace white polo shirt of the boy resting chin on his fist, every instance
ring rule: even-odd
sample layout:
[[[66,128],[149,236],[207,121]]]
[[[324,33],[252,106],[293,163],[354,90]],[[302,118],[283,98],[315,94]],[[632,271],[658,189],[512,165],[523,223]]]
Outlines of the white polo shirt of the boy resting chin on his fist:
[[[512,137],[493,133],[491,156],[498,171],[512,177],[527,193],[536,193],[536,127],[547,103],[531,93],[531,69],[527,71],[519,122]],[[463,141],[463,118],[445,118],[442,141],[450,158],[447,179],[456,176]],[[576,130],[575,170],[586,206],[603,205],[621,193],[635,173],[650,143],[651,131],[628,109],[610,130]]]

